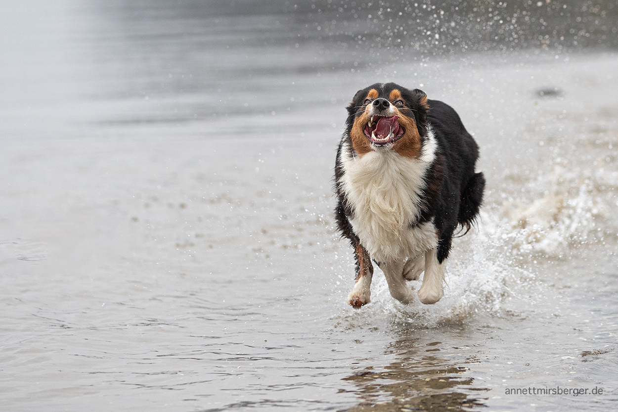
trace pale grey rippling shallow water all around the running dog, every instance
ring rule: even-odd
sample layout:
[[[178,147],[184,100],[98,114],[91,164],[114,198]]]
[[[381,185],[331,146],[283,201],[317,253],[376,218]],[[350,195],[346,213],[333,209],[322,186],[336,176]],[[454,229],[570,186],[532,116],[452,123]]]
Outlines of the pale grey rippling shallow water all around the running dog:
[[[2,17],[7,410],[614,410],[615,53],[402,58],[315,16],[180,10]],[[332,167],[376,81],[454,106],[481,147],[485,207],[433,306],[379,273],[370,305],[345,304]]]

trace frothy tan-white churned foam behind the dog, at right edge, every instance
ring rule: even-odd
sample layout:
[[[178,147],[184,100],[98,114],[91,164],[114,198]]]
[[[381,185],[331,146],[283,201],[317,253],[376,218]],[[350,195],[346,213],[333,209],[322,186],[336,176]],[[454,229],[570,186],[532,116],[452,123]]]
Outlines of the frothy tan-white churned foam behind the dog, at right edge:
[[[616,242],[611,208],[616,205],[618,173],[565,168],[554,165],[551,173],[528,186],[540,195],[528,204],[503,205],[515,253],[561,259],[572,248],[585,244]]]

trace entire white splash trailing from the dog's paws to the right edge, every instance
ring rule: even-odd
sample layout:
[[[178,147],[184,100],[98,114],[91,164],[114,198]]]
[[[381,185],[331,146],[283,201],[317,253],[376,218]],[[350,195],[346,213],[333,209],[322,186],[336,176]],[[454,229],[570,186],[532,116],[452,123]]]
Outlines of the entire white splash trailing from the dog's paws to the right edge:
[[[398,303],[376,268],[372,303],[361,311],[421,328],[459,324],[479,314],[522,314],[547,298],[547,286],[536,273],[539,265],[564,259],[586,244],[615,242],[609,211],[618,173],[601,172],[554,165],[551,173],[528,182],[528,192],[540,193],[536,199],[487,205],[475,230],[455,242],[438,303]],[[421,281],[408,285],[418,291]]]

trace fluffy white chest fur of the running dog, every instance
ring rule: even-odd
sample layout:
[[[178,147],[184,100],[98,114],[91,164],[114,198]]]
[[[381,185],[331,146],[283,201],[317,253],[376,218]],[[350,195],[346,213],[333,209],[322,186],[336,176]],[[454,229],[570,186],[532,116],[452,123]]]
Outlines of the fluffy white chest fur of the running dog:
[[[387,148],[358,158],[344,147],[341,183],[354,212],[350,223],[373,259],[405,259],[436,247],[431,223],[410,228],[421,213],[420,194],[435,150],[432,134],[419,159],[402,157]]]

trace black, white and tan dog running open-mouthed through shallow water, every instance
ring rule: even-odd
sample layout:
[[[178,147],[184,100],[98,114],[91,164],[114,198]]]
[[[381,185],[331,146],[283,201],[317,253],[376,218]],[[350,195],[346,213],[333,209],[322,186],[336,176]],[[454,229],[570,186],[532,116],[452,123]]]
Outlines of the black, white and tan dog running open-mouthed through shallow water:
[[[478,145],[451,106],[394,83],[359,90],[337,150],[335,218],[356,257],[347,303],[370,303],[373,260],[391,296],[438,302],[454,231],[470,230],[483,202]],[[464,234],[465,234],[464,233]],[[462,235],[463,236],[463,235]]]

